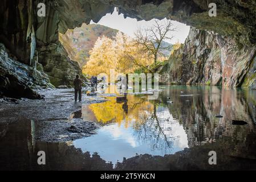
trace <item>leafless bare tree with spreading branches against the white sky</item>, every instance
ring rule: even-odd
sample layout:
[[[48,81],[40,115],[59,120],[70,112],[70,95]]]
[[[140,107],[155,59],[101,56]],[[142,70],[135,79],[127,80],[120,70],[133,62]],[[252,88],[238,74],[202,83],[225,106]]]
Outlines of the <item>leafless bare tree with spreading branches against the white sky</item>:
[[[162,50],[170,51],[172,46],[166,46],[163,42],[173,39],[173,31],[176,31],[176,28],[170,20],[164,22],[155,20],[151,27],[139,28],[135,32],[135,44],[148,52],[148,56],[153,56],[154,63],[156,63],[158,56],[162,55]]]

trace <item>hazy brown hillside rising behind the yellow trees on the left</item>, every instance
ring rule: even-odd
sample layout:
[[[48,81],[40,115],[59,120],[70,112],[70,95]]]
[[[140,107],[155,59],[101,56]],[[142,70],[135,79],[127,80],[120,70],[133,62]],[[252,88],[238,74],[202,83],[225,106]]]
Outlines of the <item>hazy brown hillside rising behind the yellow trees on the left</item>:
[[[80,67],[87,63],[90,56],[89,51],[94,47],[97,38],[107,36],[112,39],[116,36],[118,30],[109,28],[100,24],[82,24],[81,27],[74,30],[68,30],[66,34],[59,34],[59,40],[67,50],[68,55],[74,61],[78,61]],[[167,47],[171,44],[163,42]],[[164,50],[162,53],[169,57],[170,51]]]

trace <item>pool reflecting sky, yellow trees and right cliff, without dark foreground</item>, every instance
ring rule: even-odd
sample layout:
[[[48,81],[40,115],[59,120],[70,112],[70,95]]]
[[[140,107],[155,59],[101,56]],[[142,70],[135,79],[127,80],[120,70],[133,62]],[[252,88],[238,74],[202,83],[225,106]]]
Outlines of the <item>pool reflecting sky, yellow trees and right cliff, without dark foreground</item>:
[[[160,89],[155,100],[129,94],[123,101],[107,97],[107,102],[83,106],[82,118],[102,127],[92,137],[75,140],[74,146],[115,164],[140,154],[174,154],[224,137],[241,140],[255,131],[255,102],[246,103],[248,92],[214,86]],[[249,92],[256,98],[254,91]],[[232,125],[234,119],[247,125]]]

